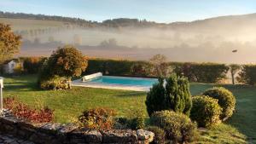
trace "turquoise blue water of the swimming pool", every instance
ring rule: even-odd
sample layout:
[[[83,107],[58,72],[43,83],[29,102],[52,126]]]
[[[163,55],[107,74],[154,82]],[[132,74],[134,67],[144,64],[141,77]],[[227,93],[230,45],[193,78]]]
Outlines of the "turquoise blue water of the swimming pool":
[[[99,78],[91,79],[90,82],[99,84],[121,84],[130,86],[151,87],[153,84],[157,83],[158,80],[156,78],[126,78],[102,76]]]

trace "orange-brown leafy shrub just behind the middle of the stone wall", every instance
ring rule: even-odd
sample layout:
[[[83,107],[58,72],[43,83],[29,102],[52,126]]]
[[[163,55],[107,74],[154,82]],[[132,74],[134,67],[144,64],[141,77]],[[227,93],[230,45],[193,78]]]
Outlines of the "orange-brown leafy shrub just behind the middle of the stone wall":
[[[109,108],[95,108],[86,110],[79,116],[79,122],[89,129],[111,130],[115,112]]]

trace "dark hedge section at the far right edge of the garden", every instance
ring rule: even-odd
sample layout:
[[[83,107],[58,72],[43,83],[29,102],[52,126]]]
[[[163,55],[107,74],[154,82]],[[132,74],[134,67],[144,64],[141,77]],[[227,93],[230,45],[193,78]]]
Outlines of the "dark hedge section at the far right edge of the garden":
[[[241,66],[237,80],[243,84],[256,85],[256,65]]]

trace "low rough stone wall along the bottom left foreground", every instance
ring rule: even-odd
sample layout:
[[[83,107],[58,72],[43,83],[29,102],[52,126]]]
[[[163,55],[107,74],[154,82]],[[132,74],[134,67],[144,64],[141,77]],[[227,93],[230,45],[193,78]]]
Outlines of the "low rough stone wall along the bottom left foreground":
[[[147,130],[88,130],[75,124],[32,124],[9,112],[0,116],[0,132],[39,144],[148,144],[154,133]]]

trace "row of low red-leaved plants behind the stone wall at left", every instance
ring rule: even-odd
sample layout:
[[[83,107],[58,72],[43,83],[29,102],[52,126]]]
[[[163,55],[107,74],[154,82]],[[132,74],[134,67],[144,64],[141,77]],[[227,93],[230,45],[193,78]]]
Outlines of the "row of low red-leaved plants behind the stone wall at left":
[[[48,107],[40,109],[31,108],[17,101],[15,97],[4,98],[3,103],[4,107],[11,110],[16,117],[25,118],[33,123],[49,123],[54,118],[53,111]]]

